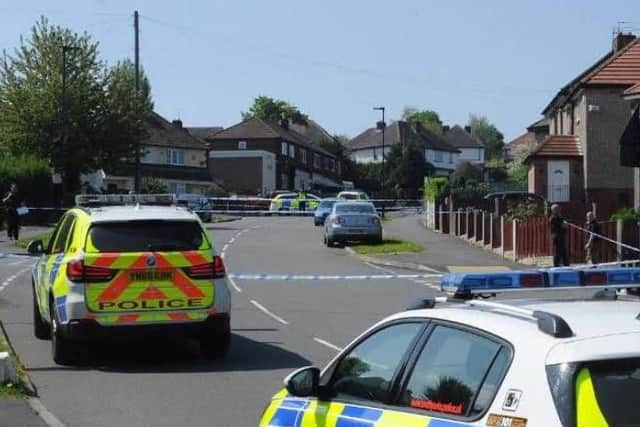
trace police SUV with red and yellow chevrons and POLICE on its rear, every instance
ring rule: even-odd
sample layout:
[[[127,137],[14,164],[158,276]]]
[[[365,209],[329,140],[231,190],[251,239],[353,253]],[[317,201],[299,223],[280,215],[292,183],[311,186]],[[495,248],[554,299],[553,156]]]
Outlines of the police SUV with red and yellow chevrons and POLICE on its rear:
[[[76,197],[33,268],[33,323],[59,364],[86,344],[129,332],[177,331],[226,355],[231,297],[225,266],[200,219],[173,195]]]

